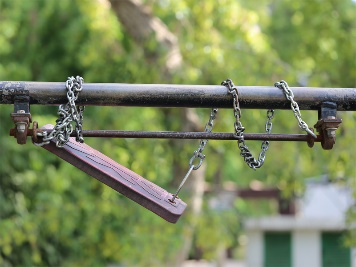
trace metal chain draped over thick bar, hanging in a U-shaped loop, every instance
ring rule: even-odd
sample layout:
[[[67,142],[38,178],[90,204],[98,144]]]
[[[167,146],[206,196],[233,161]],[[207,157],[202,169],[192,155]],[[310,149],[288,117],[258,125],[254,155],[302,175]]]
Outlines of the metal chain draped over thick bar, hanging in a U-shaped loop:
[[[221,83],[221,85],[226,86],[229,90],[229,93],[232,94],[232,96],[233,96],[233,107],[234,107],[234,116],[235,116],[234,128],[235,128],[235,134],[239,138],[237,141],[237,144],[241,151],[240,155],[243,157],[244,161],[250,168],[252,168],[254,170],[256,170],[256,168],[261,168],[265,159],[266,159],[266,152],[269,148],[269,141],[262,142],[261,152],[258,155],[258,158],[255,159],[245,142],[245,138],[244,138],[244,134],[243,134],[243,132],[245,131],[245,127],[242,126],[242,123],[240,121],[241,109],[240,109],[240,104],[239,104],[237,87],[234,85],[234,83],[232,82],[231,79],[227,79],[226,81],[223,81]],[[268,134],[270,134],[272,131],[273,117],[274,117],[274,110],[269,109],[267,111],[267,122],[265,125],[265,130],[266,130],[266,133],[268,133]]]

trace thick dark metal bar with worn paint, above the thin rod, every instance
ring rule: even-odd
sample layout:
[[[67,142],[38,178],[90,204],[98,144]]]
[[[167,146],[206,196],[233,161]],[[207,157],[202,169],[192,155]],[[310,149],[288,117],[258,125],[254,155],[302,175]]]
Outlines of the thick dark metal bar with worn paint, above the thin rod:
[[[338,110],[356,110],[356,88],[291,87],[302,110],[318,110],[322,102]],[[289,109],[282,90],[273,86],[238,86],[241,108]],[[0,104],[14,103],[14,96],[30,96],[31,104],[67,102],[64,82],[0,82]],[[141,107],[231,108],[232,96],[220,85],[84,83],[79,105]]]

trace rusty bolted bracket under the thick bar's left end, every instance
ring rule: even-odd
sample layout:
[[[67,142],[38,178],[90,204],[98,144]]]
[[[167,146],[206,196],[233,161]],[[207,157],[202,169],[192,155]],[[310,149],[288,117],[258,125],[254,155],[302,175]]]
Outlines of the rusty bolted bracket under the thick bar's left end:
[[[32,122],[28,91],[22,90],[14,97],[14,112],[11,113],[11,118],[15,123],[15,128],[12,131],[14,131],[17,143],[26,144],[30,123]]]

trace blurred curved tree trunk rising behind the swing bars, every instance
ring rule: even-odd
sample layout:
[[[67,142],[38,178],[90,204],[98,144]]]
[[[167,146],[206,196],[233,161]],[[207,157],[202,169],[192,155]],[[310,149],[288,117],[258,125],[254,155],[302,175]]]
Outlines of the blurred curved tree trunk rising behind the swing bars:
[[[178,46],[176,36],[169,31],[167,26],[157,17],[155,17],[147,7],[143,6],[139,0],[109,0],[111,7],[118,19],[124,26],[127,33],[132,39],[145,50],[145,58],[150,62],[159,62],[164,60],[163,69],[161,72],[164,74],[167,81],[169,81],[176,71],[182,66],[182,55]],[[150,49],[155,42],[155,51]],[[162,53],[163,51],[163,53]],[[165,114],[169,115],[169,111],[165,110]],[[181,109],[181,125],[185,131],[201,130],[201,125],[197,114],[191,109]],[[181,147],[180,140],[172,141],[170,144],[174,146],[174,151]],[[195,149],[195,148],[194,148]],[[192,151],[193,153],[193,151]],[[187,159],[188,161],[189,159]],[[189,165],[181,166],[179,162],[175,162],[174,173],[178,175],[177,179],[182,179],[187,172]],[[193,234],[196,227],[196,220],[202,209],[202,200],[204,194],[204,181],[205,181],[205,166],[197,171],[191,173],[185,188],[187,188],[190,199],[188,203],[189,212],[191,213],[192,220],[186,226],[186,234],[184,235],[184,242],[180,251],[177,252],[176,266],[182,266],[182,262],[188,258],[189,251],[192,246]]]

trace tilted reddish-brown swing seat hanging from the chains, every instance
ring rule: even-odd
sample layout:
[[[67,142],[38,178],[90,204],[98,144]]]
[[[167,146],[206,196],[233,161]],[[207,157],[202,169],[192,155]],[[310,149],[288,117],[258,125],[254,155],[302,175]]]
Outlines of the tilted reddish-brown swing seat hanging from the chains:
[[[53,125],[50,124],[41,128],[44,131],[52,129]],[[74,137],[70,137],[69,142],[62,148],[56,146],[55,139],[43,148],[170,223],[176,223],[187,206],[179,198],[171,202],[171,193],[87,144],[76,142]]]

